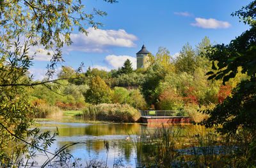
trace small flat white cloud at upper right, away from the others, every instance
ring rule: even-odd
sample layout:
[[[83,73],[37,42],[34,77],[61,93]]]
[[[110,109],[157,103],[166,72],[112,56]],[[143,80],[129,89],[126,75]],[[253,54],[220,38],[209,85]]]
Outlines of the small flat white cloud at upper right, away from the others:
[[[223,22],[220,20],[216,20],[216,19],[204,19],[204,18],[200,18],[200,17],[196,17],[196,22],[192,23],[192,26],[196,26],[196,27],[202,27],[204,29],[227,29],[228,27],[231,26],[230,23],[228,22]]]

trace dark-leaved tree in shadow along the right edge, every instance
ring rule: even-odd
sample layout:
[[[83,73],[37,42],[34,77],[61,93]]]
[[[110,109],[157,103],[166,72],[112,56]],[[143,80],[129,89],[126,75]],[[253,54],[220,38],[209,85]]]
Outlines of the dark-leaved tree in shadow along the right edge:
[[[232,95],[212,110],[205,113],[211,117],[201,124],[206,126],[221,125],[218,128],[222,134],[236,134],[237,130],[249,130],[255,138],[256,118],[256,1],[232,13],[250,25],[250,29],[232,40],[228,45],[215,45],[207,50],[207,56],[212,61],[212,71],[208,72],[209,80],[222,79],[223,84],[236,77],[241,67],[241,73],[250,78],[241,81],[233,89]],[[216,64],[214,61],[218,61]],[[255,142],[254,142],[255,144]]]

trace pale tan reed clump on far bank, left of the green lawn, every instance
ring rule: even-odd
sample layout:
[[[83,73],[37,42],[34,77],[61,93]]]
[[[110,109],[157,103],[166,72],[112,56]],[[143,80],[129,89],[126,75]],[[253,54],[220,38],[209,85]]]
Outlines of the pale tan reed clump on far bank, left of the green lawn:
[[[47,104],[38,104],[35,107],[35,118],[61,118],[63,112],[59,107]]]

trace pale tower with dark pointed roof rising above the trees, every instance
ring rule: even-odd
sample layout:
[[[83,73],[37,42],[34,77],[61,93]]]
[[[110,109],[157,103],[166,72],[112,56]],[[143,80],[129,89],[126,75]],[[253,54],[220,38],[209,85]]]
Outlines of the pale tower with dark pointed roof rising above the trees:
[[[137,56],[137,70],[139,68],[147,68],[149,66],[149,57],[148,57],[148,50],[146,49],[145,45],[141,47],[141,50],[136,53]]]

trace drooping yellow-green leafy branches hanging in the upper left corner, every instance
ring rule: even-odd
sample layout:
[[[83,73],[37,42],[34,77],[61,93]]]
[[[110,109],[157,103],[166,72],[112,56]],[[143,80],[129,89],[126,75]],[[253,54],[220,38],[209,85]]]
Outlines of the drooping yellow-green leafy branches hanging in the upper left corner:
[[[116,3],[116,0],[103,1]],[[55,72],[56,63],[63,61],[61,48],[72,43],[70,34],[74,29],[88,34],[84,27],[91,25],[97,29],[102,25],[94,19],[97,15],[105,16],[106,12],[93,9],[92,13],[88,13],[86,10],[81,0],[1,1],[0,52],[8,52],[17,37],[47,51],[51,49],[53,54],[47,72],[51,76]],[[48,54],[50,55],[51,52]]]

